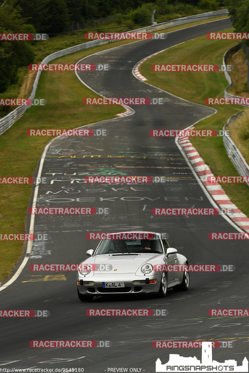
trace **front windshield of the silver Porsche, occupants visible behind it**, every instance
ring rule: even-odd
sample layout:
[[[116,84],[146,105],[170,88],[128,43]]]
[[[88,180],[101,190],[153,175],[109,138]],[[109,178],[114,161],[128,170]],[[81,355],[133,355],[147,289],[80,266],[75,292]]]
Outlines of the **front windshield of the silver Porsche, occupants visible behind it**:
[[[157,253],[162,254],[159,239],[103,239],[96,255],[115,253]]]

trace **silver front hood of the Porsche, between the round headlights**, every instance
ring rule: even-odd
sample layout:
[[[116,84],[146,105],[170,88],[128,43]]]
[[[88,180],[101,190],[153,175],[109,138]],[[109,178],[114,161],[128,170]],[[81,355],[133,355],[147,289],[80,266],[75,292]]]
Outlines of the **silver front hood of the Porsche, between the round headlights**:
[[[143,264],[151,263],[155,258],[160,256],[158,254],[147,253],[97,255],[94,257],[94,264],[97,265],[99,270],[95,270],[94,272],[98,274],[136,273]]]

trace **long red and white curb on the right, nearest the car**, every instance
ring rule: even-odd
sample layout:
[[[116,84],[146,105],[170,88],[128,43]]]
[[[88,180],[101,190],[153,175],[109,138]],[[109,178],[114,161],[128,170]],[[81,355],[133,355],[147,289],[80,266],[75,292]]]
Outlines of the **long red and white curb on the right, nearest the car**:
[[[214,176],[214,174],[208,165],[203,161],[196,148],[193,147],[189,141],[189,137],[179,137],[178,144],[186,154],[194,171],[198,175],[208,193],[214,199],[215,203],[217,203],[217,205],[222,209],[233,209],[234,214],[229,216],[230,219],[233,220],[233,222],[239,226],[240,229],[249,232],[249,218],[230,200],[228,195],[225,194],[225,191],[221,188],[220,184],[212,183],[212,185],[210,185],[206,181],[207,176]]]

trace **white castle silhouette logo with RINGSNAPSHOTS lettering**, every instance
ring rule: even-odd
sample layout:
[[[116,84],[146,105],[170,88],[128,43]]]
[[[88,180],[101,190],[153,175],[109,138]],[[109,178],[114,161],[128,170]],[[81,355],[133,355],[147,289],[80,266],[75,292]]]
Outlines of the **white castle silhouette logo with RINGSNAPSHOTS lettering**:
[[[156,360],[156,372],[248,372],[248,360],[245,357],[242,365],[236,360],[225,360],[224,363],[212,360],[212,342],[202,342],[202,361],[194,357],[183,357],[169,354],[169,361],[162,364]]]

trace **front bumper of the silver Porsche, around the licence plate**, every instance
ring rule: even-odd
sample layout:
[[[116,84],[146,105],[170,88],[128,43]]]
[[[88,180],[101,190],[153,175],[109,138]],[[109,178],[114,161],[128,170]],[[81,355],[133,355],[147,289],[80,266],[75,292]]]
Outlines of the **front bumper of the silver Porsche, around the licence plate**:
[[[156,283],[142,283],[134,284],[137,280],[153,280]],[[80,281],[81,285],[78,285]],[[94,285],[83,285],[85,281],[94,281]],[[124,282],[124,288],[103,288],[102,282]],[[148,280],[147,280],[148,282]],[[77,276],[77,286],[81,294],[87,295],[111,295],[111,294],[149,294],[151,292],[158,292],[161,283],[161,273],[159,275],[136,276],[133,273],[112,273],[112,274],[94,274],[87,278]]]

